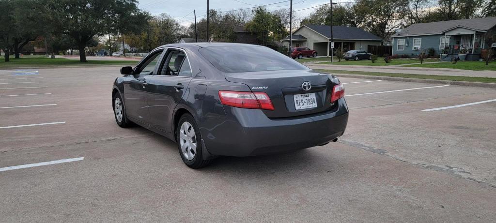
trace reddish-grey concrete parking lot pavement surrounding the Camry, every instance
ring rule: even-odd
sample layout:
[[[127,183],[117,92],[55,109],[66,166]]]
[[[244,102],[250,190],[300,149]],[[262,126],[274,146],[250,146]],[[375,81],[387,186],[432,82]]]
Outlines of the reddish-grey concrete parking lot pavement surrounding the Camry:
[[[1,72],[16,83],[0,84],[5,222],[496,220],[496,102],[467,105],[494,89],[341,78],[337,143],[194,170],[174,142],[117,126],[118,68]]]

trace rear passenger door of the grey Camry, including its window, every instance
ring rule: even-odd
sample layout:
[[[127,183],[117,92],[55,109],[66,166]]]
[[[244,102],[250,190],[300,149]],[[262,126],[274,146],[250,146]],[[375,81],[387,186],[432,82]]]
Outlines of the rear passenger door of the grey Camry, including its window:
[[[168,49],[160,72],[148,83],[148,110],[152,126],[171,132],[172,113],[187,92],[192,73],[186,53]]]

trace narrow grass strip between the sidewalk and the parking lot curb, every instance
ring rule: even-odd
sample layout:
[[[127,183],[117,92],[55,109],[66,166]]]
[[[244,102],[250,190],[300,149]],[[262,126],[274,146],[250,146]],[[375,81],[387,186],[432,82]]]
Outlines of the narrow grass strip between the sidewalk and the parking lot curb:
[[[327,69],[315,69],[315,70],[324,73],[336,73],[336,74],[346,73],[346,74],[360,74],[360,75],[384,76],[384,77],[405,77],[405,78],[431,79],[431,80],[496,83],[496,78],[490,78],[490,77],[461,77],[461,76],[441,76],[441,75],[424,75],[424,74],[407,74],[407,73],[381,73],[381,72],[327,70]]]

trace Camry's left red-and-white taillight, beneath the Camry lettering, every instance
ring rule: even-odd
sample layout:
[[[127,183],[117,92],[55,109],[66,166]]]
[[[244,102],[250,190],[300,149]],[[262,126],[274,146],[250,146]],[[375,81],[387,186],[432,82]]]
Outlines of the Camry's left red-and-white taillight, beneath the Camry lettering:
[[[272,101],[264,92],[219,91],[222,105],[245,108],[274,110]]]

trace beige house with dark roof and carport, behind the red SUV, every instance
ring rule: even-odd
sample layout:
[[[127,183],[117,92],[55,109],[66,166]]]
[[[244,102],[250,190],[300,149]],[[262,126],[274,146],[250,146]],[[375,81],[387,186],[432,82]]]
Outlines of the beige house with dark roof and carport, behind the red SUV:
[[[334,48],[343,52],[367,50],[369,45],[381,45],[382,39],[357,27],[332,26]],[[302,25],[292,36],[292,47],[308,47],[319,56],[330,56],[331,27],[326,25]],[[289,46],[289,35],[282,39]]]

